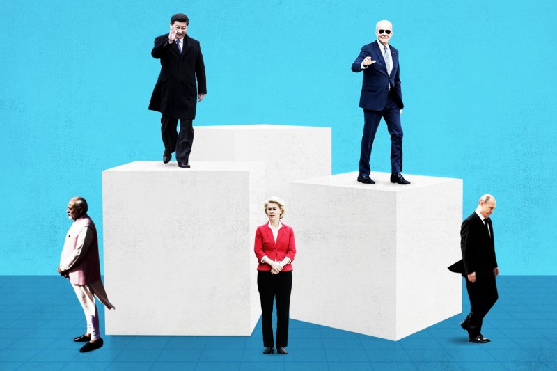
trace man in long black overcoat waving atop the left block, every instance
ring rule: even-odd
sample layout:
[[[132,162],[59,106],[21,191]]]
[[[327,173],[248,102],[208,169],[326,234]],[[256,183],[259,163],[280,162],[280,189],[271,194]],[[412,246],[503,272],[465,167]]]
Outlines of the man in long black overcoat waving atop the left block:
[[[196,105],[207,94],[203,54],[199,42],[186,35],[188,25],[189,19],[185,14],[173,15],[170,32],[155,38],[155,47],[151,52],[153,58],[161,61],[161,72],[149,109],[162,113],[162,161],[167,164],[172,152],[176,152],[180,168],[189,168]],[[180,134],[176,132],[178,120]]]

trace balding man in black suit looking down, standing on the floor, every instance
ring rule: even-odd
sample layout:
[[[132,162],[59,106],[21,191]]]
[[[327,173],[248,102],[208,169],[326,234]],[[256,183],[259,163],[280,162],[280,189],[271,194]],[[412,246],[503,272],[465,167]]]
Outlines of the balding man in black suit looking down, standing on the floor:
[[[462,260],[448,267],[466,279],[470,298],[470,313],[460,324],[468,331],[469,342],[484,343],[490,340],[481,334],[483,318],[497,301],[496,276],[499,275],[493,225],[489,216],[495,210],[495,198],[485,194],[476,210],[462,222],[460,248]]]

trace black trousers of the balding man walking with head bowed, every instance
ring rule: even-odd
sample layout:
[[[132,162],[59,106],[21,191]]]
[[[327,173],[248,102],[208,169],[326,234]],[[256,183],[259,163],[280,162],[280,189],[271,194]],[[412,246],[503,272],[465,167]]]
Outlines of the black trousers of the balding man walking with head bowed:
[[[468,326],[468,334],[471,338],[480,335],[482,331],[483,317],[494,306],[499,298],[497,285],[493,274],[476,273],[476,282],[466,280],[466,290],[470,298],[470,313],[464,319],[464,324]]]

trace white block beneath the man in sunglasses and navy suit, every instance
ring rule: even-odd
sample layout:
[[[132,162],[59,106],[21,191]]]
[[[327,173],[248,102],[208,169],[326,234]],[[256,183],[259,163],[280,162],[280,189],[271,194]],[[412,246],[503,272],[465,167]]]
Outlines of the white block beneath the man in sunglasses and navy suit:
[[[462,180],[357,172],[290,184],[290,317],[398,340],[462,311]]]

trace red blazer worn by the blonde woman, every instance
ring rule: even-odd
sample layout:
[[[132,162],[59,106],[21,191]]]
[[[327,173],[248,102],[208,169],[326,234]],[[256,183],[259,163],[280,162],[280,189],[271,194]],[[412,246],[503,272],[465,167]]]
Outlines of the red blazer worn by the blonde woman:
[[[276,236],[276,244],[274,242],[273,231],[269,228],[269,223],[258,226],[256,232],[256,243],[253,248],[256,252],[259,265],[258,271],[270,271],[271,266],[261,262],[261,259],[267,256],[271,260],[281,262],[285,257],[290,258],[290,262],[294,261],[296,255],[296,244],[294,242],[294,231],[289,226],[283,224],[283,228],[278,230]],[[283,271],[291,271],[292,264],[284,266]]]

